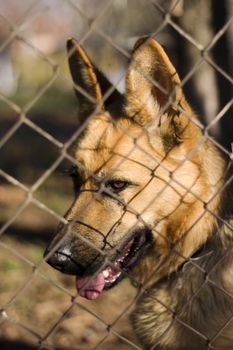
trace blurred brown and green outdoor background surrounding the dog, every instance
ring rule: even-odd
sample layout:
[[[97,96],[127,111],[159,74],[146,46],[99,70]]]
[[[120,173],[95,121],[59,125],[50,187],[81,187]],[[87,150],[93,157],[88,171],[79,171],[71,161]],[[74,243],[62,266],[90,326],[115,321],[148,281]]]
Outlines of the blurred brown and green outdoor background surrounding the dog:
[[[128,322],[135,295],[128,281],[97,302],[72,303],[73,278],[43,262],[73,198],[70,162],[61,156],[64,147],[72,154],[78,128],[67,38],[124,92],[135,41],[153,35],[229,155],[232,16],[232,0],[0,0],[1,349],[140,348]]]

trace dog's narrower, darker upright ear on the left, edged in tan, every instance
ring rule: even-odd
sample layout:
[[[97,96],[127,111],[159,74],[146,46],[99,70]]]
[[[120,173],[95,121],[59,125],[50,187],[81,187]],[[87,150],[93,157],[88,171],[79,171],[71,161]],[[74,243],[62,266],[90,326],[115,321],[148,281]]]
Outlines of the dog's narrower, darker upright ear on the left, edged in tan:
[[[91,115],[97,107],[100,112],[103,112],[111,109],[116,100],[118,102],[122,100],[121,94],[113,88],[104,74],[94,66],[75,39],[72,38],[67,41],[67,50],[81,119]]]

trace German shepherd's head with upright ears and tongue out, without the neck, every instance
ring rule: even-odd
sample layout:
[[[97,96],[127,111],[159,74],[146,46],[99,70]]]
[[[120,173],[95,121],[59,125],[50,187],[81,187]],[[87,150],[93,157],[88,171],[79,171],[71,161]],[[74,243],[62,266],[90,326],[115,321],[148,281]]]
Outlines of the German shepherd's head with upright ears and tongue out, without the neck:
[[[83,131],[68,224],[59,225],[46,254],[93,299],[125,276],[152,284],[204,244],[223,163],[154,39],[135,45],[125,98],[74,39],[68,53]]]

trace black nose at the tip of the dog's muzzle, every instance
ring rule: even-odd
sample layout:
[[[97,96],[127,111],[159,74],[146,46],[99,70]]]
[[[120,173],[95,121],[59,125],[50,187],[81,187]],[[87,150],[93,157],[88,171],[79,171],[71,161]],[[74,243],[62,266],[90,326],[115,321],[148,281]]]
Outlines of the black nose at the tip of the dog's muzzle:
[[[47,248],[44,253],[44,258],[46,258],[49,253],[50,250]],[[56,270],[69,275],[82,276],[84,273],[84,267],[75,261],[68,248],[58,249],[46,261]]]

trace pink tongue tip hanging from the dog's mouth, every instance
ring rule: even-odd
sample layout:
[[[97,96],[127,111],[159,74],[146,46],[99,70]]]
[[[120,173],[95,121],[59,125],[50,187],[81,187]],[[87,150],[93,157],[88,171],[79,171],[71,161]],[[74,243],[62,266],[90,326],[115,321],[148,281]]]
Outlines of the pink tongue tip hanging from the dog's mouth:
[[[86,299],[96,299],[104,289],[104,275],[100,272],[96,277],[77,278],[76,288],[79,295]]]

